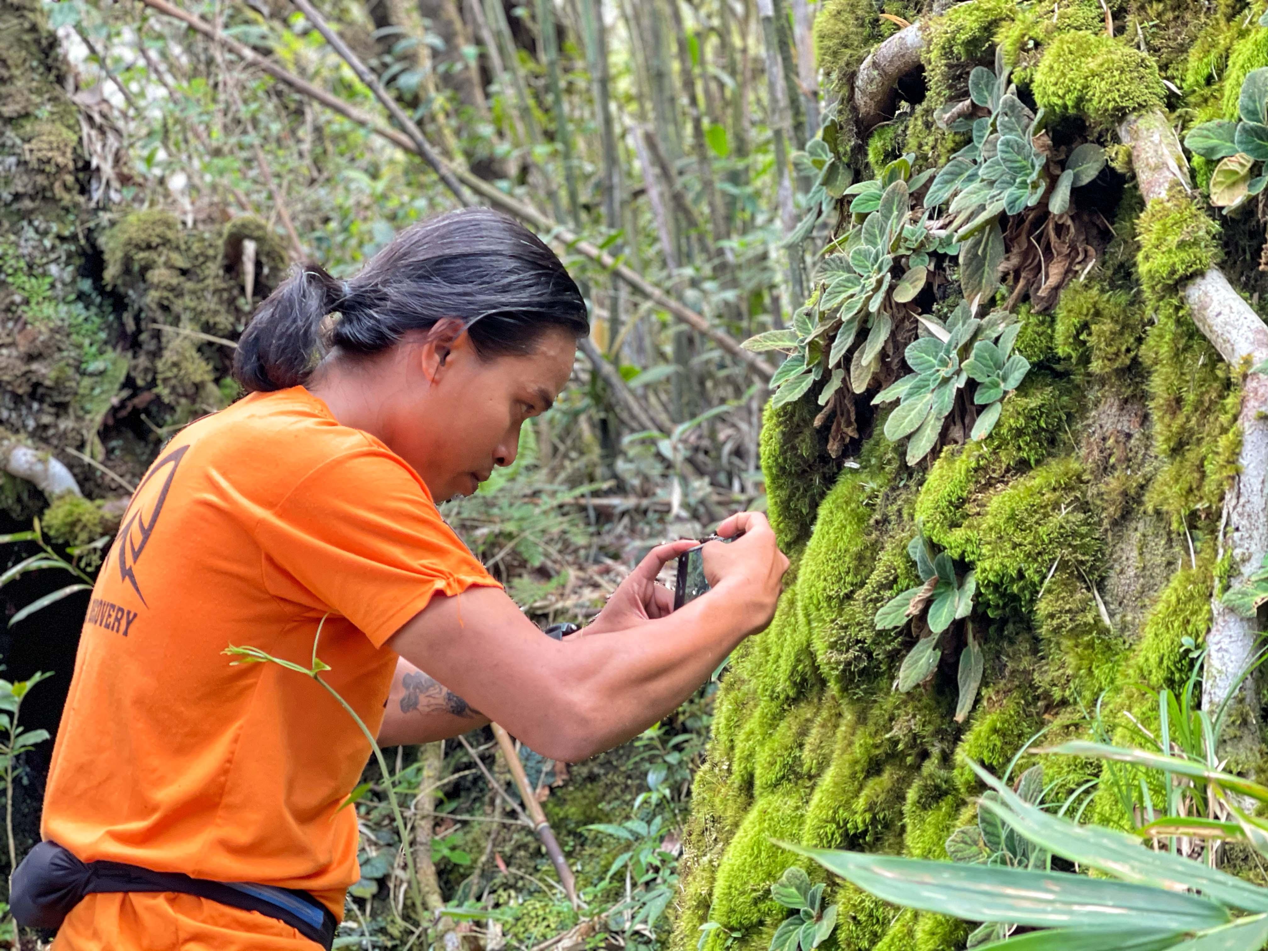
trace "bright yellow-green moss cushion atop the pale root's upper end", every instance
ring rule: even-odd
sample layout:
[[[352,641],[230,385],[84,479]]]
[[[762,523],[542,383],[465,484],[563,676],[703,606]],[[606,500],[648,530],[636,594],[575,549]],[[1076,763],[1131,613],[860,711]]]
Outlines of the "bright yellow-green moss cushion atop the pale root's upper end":
[[[1055,37],[1035,70],[1031,93],[1054,117],[1082,115],[1099,124],[1165,101],[1154,60],[1104,33]]]

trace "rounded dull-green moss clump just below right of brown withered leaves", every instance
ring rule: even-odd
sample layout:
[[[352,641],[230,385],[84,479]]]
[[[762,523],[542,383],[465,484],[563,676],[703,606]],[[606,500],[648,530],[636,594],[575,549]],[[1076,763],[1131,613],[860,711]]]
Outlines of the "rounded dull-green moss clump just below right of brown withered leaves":
[[[1056,304],[1056,353],[1098,377],[1115,377],[1135,361],[1145,326],[1145,309],[1132,293],[1074,281]]]

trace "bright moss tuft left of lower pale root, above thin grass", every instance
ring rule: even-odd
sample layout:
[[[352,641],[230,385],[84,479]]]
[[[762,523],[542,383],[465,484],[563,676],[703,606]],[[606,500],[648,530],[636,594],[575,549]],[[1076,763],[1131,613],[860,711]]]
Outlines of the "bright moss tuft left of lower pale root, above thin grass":
[[[1140,643],[1132,650],[1131,672],[1155,690],[1182,692],[1193,670],[1189,648],[1182,642],[1191,638],[1201,647],[1206,640],[1215,587],[1211,560],[1207,555],[1196,567],[1175,572],[1145,620]]]

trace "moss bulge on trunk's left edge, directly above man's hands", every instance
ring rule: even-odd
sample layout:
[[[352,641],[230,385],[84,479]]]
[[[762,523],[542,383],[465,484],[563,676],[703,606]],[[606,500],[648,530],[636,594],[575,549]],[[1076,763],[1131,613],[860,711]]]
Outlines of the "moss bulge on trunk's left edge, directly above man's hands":
[[[825,430],[814,427],[817,413],[814,401],[798,399],[777,408],[767,404],[762,418],[767,514],[785,552],[810,536],[819,502],[839,470],[828,455]]]

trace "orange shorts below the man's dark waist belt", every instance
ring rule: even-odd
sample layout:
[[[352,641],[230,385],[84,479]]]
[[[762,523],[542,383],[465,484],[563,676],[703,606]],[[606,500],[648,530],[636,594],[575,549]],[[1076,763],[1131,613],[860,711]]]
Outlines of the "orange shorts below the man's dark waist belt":
[[[53,951],[314,951],[276,918],[197,895],[109,891],[66,915]]]

